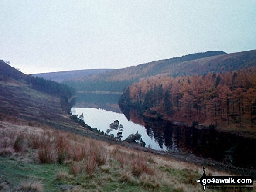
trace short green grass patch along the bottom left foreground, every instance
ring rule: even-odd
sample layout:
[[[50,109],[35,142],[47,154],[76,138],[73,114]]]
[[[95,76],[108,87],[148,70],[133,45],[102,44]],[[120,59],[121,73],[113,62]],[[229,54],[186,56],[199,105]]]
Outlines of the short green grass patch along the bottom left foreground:
[[[61,185],[72,185],[76,191],[170,191],[171,186],[154,185],[154,182],[142,178],[125,178],[126,170],[120,169],[119,163],[109,160],[107,165],[99,167],[89,175],[80,172],[73,176],[68,165],[38,164],[11,158],[0,158],[0,179],[10,182],[9,189],[19,189],[22,182],[41,181],[44,191],[61,191]],[[65,172],[64,176],[57,178],[57,174]],[[60,174],[61,175],[61,174]],[[150,177],[149,177],[150,178]],[[0,180],[1,181],[1,180]]]

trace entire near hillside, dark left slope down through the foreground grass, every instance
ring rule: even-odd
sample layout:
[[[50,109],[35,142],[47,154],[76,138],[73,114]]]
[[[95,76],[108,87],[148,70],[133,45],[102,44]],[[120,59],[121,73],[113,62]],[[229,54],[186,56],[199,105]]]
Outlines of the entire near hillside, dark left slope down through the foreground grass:
[[[195,162],[202,159],[174,154],[186,161],[180,162],[167,153],[154,155],[162,153],[89,131],[69,118],[58,94],[41,87],[58,83],[27,76],[2,61],[0,69],[1,191],[201,189],[195,183],[201,165]],[[208,173],[229,174],[210,167]]]

